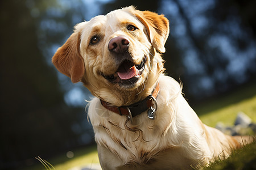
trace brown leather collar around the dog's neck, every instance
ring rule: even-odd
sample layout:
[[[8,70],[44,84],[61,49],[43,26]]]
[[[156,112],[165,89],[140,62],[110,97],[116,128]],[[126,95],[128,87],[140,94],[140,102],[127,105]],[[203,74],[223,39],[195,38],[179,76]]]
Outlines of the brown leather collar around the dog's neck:
[[[149,95],[146,97],[146,99],[138,101],[137,103],[131,104],[129,106],[114,107],[110,103],[103,100],[101,100],[101,104],[109,111],[132,118],[146,111],[148,108],[155,104],[155,98],[158,96],[159,90],[160,86],[158,83],[152,91],[152,95]]]

